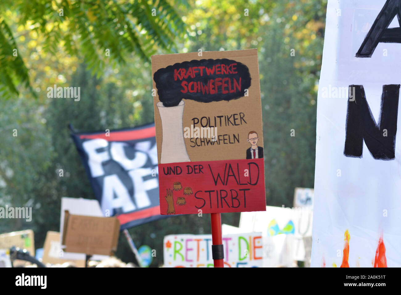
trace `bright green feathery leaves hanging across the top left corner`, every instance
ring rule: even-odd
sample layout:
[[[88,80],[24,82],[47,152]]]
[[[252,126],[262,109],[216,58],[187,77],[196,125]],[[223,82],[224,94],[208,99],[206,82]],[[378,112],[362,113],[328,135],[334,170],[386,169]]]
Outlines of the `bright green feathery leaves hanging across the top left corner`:
[[[15,21],[11,23],[9,17]],[[174,52],[185,24],[168,0],[2,0],[0,2],[0,96],[30,87],[28,69],[18,55],[15,31],[43,36],[43,49],[53,55],[62,46],[83,57],[92,73],[107,65],[124,64],[134,53],[143,60],[160,48]],[[13,53],[17,53],[17,55]]]

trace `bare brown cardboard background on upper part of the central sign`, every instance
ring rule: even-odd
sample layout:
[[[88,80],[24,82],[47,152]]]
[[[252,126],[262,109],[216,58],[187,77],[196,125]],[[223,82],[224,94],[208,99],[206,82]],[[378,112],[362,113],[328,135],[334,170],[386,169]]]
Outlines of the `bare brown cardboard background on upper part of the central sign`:
[[[251,86],[249,87],[249,96],[239,99],[220,102],[196,102],[194,100],[184,99],[184,115],[183,127],[190,127],[192,118],[210,117],[214,123],[215,116],[232,115],[243,113],[246,124],[239,126],[217,126],[217,134],[229,134],[230,140],[233,141],[233,134],[239,136],[239,142],[234,144],[214,144],[213,146],[193,146],[190,138],[184,138],[186,151],[190,161],[218,161],[245,159],[246,150],[250,148],[247,142],[248,133],[256,131],[259,137],[258,146],[263,147],[262,132],[262,113],[261,113],[261,97],[259,84],[259,67],[257,61],[257,49],[235,50],[235,51],[203,51],[203,56],[198,56],[198,52],[153,55],[152,56],[152,73],[158,69],[165,68],[174,63],[182,63],[184,61],[202,60],[202,59],[232,59],[243,63],[249,69],[251,75]],[[153,89],[156,89],[156,83],[153,80]],[[156,92],[154,97],[155,124],[156,124],[156,141],[158,150],[158,161],[160,163],[161,145],[162,145],[162,123],[160,114],[156,104],[160,102]],[[205,119],[204,119],[205,120]],[[217,119],[219,120],[219,119]],[[231,118],[233,120],[233,118]],[[211,124],[213,125],[213,124]],[[198,125],[200,126],[200,125]],[[228,136],[225,137],[229,140]]]

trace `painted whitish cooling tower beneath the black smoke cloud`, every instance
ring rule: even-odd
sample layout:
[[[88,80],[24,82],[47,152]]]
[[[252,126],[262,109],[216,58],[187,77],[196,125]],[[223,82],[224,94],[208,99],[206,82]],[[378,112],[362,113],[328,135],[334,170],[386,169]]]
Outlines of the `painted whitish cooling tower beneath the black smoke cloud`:
[[[184,101],[178,106],[166,107],[162,102],[156,104],[162,120],[162,151],[160,164],[190,162],[186,152],[182,116],[184,114]]]

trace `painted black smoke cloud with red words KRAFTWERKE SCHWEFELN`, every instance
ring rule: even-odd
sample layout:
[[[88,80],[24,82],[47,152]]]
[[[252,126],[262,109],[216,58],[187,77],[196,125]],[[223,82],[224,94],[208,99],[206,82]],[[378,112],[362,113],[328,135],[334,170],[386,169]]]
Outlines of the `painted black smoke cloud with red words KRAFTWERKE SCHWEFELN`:
[[[251,85],[248,67],[230,59],[184,61],[159,69],[153,78],[166,107],[178,106],[182,99],[205,103],[235,100]]]

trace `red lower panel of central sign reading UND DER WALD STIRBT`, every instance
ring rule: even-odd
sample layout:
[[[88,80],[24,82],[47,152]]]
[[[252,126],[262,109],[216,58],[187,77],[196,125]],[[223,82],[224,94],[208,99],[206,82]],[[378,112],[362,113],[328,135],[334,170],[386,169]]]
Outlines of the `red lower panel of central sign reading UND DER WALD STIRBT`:
[[[159,164],[160,213],[265,211],[263,159]]]

